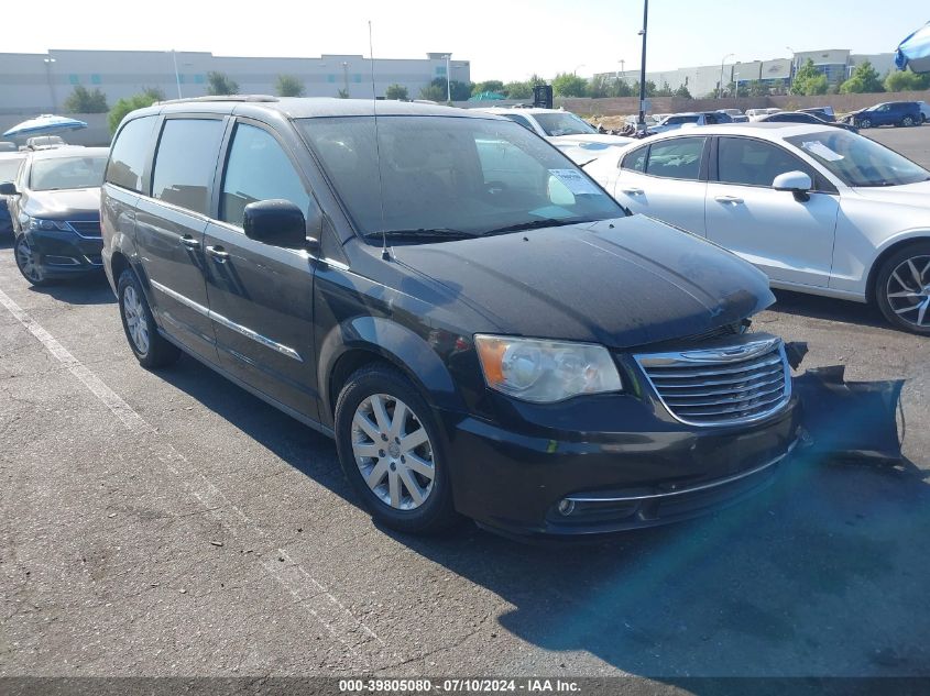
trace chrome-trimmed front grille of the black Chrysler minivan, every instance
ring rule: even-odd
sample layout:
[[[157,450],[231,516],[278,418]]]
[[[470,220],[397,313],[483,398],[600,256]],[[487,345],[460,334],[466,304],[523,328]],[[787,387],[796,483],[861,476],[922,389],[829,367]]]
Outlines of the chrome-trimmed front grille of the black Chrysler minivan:
[[[791,398],[791,372],[778,338],[635,358],[663,405],[690,426],[758,421]]]

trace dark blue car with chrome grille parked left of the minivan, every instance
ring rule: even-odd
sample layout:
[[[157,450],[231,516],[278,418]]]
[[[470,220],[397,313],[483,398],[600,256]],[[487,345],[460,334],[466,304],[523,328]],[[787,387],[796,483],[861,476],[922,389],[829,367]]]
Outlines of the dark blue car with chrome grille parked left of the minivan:
[[[0,184],[9,199],[17,267],[33,285],[99,272],[100,184],[106,147],[31,152],[14,183]]]

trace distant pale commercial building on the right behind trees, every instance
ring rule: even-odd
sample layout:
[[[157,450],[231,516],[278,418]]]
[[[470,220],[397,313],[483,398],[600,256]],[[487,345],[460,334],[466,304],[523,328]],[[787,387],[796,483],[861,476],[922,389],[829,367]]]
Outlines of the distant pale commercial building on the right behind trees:
[[[770,60],[750,60],[746,63],[726,63],[719,65],[704,65],[690,68],[678,68],[675,70],[647,71],[646,79],[655,82],[656,87],[663,88],[668,85],[670,89],[687,87],[692,97],[705,97],[723,86],[730,89],[738,82],[761,81],[772,93],[785,93],[791,85],[791,77],[805,65],[807,60],[813,62],[814,67],[827,76],[831,86],[836,86],[852,74],[855,67],[865,60],[885,76],[895,68],[895,54],[853,54],[847,49],[830,48],[824,51],[802,51],[795,53],[790,58],[774,58]],[[639,80],[639,70],[615,70],[613,73],[599,73],[605,79],[623,79],[626,82]]]

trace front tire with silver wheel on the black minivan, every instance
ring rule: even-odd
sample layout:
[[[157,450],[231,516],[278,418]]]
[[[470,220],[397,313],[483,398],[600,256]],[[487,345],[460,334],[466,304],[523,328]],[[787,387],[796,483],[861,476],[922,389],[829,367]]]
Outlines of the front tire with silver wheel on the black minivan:
[[[436,534],[459,521],[433,410],[396,369],[370,365],[336,404],[336,448],[364,507],[385,527]]]

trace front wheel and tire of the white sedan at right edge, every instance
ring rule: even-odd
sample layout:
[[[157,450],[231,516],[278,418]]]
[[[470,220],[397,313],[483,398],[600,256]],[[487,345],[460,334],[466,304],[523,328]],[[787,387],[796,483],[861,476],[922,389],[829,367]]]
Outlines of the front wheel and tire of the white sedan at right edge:
[[[930,242],[906,246],[882,264],[875,301],[898,329],[930,335]]]

